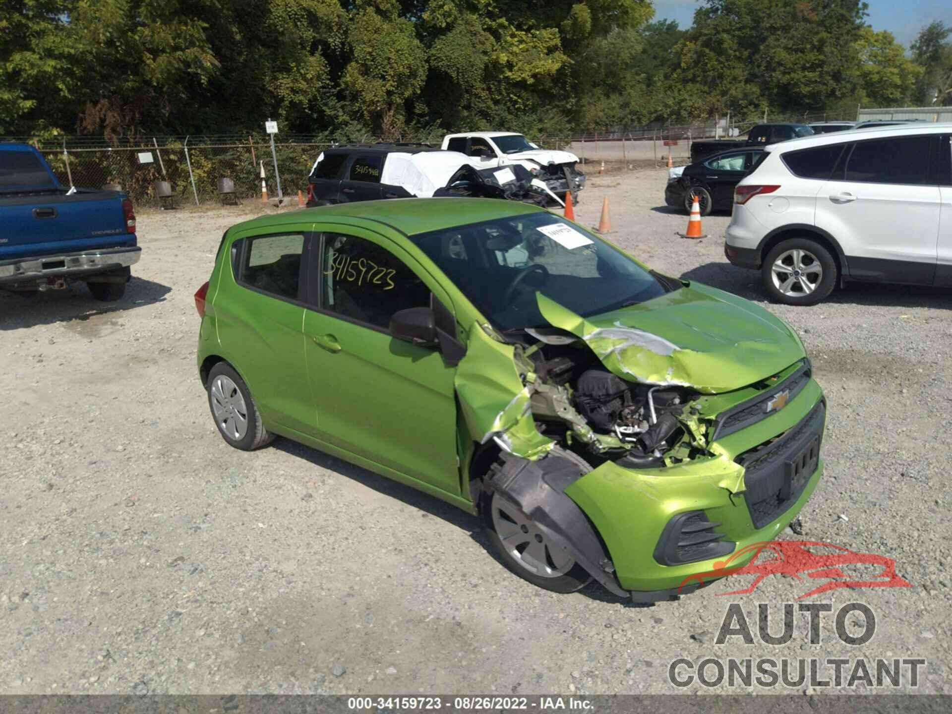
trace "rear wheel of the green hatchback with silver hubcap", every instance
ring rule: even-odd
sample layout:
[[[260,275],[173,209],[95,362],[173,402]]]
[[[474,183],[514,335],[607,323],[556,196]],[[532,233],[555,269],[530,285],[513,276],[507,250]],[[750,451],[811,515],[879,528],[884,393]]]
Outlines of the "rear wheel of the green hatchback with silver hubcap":
[[[261,421],[248,385],[227,362],[211,367],[207,388],[211,418],[228,446],[252,451],[274,439]]]

